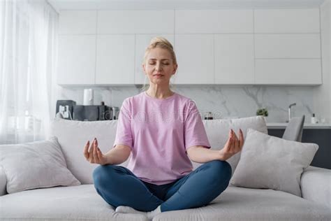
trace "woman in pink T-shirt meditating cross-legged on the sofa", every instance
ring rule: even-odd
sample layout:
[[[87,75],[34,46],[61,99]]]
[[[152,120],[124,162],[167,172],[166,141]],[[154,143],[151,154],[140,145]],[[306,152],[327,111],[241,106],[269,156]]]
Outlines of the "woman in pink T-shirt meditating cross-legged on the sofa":
[[[114,147],[103,154],[98,141],[84,147],[84,157],[100,164],[93,172],[96,192],[118,213],[142,213],[152,219],[164,211],[206,206],[231,177],[226,159],[242,150],[244,136],[231,129],[221,150],[210,150],[196,104],[170,90],[177,70],[172,45],[153,38],[142,69],[148,90],[124,100]],[[128,159],[127,168],[116,166]],[[203,163],[192,171],[191,161]]]

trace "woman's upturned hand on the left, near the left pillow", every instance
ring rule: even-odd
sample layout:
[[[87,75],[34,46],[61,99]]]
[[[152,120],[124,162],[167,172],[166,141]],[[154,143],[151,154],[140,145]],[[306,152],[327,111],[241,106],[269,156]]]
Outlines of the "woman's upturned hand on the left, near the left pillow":
[[[98,141],[96,138],[92,141],[91,146],[89,145],[89,141],[87,141],[84,147],[84,157],[91,164],[105,165],[107,163],[105,155],[103,155],[101,150],[98,148]]]

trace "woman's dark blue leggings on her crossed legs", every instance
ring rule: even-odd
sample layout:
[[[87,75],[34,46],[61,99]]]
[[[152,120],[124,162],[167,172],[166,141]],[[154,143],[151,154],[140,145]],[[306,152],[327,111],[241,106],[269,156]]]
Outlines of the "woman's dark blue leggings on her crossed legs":
[[[131,206],[138,211],[177,211],[206,206],[221,194],[231,178],[226,161],[200,165],[183,178],[165,185],[146,183],[124,166],[103,165],[93,171],[96,192],[111,206]]]

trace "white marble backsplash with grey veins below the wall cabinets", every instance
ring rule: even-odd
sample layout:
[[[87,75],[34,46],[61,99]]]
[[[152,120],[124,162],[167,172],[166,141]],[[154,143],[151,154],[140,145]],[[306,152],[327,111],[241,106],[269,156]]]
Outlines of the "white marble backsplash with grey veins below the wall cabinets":
[[[105,102],[108,106],[121,106],[126,97],[142,92],[141,87],[59,87],[57,99],[71,99],[78,105],[83,103],[84,88],[94,89],[94,105]],[[200,115],[212,112],[214,119],[250,117],[256,115],[258,108],[267,108],[267,122],[286,122],[288,106],[292,116],[306,115],[306,122],[314,110],[314,86],[240,86],[173,85],[172,90],[196,101]],[[320,120],[326,116],[317,116]]]

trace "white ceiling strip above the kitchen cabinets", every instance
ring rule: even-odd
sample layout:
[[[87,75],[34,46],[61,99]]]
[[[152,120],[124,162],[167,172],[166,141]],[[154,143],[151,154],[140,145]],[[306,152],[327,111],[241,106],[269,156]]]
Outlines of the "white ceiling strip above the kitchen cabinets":
[[[328,0],[47,0],[55,10],[318,8]]]

